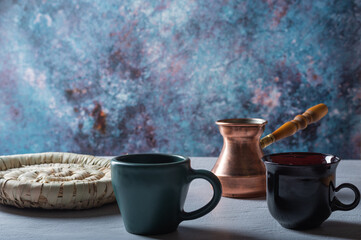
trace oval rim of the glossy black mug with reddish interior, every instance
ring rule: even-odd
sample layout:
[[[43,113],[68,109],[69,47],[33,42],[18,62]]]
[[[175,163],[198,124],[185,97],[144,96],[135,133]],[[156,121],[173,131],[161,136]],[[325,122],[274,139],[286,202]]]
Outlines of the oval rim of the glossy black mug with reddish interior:
[[[332,162],[327,162],[327,163],[321,163],[321,164],[285,164],[285,163],[277,163],[277,162],[272,162],[270,161],[272,157],[274,156],[282,156],[282,155],[315,155],[315,156],[323,156],[323,157],[331,157],[331,159],[333,160]],[[283,152],[283,153],[272,153],[272,154],[267,154],[264,155],[262,157],[262,161],[265,164],[270,164],[270,165],[275,165],[275,166],[286,166],[286,167],[317,167],[317,166],[331,166],[331,165],[335,165],[338,164],[341,161],[341,158],[332,155],[332,154],[328,154],[328,153],[319,153],[319,152]]]

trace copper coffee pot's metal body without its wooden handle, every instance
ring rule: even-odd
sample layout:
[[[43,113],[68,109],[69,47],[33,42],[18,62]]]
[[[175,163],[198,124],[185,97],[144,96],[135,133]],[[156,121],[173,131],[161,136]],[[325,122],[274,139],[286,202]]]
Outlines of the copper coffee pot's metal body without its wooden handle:
[[[223,119],[216,122],[223,148],[212,172],[222,183],[224,197],[265,196],[266,170],[261,161],[260,138],[267,124],[260,118]]]

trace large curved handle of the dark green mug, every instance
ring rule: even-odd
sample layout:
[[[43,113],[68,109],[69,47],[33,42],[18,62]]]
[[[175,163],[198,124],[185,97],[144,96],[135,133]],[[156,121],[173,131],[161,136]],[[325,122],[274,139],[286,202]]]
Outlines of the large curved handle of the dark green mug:
[[[212,199],[203,207],[198,210],[192,212],[182,211],[181,213],[181,221],[184,220],[192,220],[196,218],[200,218],[210,211],[212,211],[218,204],[219,200],[222,197],[222,185],[219,179],[212,172],[207,170],[191,170],[189,174],[189,182],[193,181],[196,178],[203,178],[207,180],[213,187],[213,197]]]

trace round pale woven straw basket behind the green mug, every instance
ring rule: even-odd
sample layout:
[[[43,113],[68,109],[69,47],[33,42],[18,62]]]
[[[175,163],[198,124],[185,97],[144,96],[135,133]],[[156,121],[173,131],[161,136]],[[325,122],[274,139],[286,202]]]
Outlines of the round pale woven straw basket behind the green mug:
[[[74,153],[0,156],[0,203],[85,209],[114,202],[110,161]]]

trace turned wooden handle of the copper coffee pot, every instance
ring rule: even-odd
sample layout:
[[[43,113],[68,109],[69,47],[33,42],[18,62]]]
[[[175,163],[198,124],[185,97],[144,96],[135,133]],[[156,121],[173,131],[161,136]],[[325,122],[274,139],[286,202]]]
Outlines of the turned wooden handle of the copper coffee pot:
[[[280,139],[292,136],[298,130],[305,129],[309,124],[323,118],[327,112],[328,108],[323,103],[307,109],[302,115],[297,115],[292,121],[286,122],[276,131],[262,138],[260,142],[261,148],[265,148]]]

